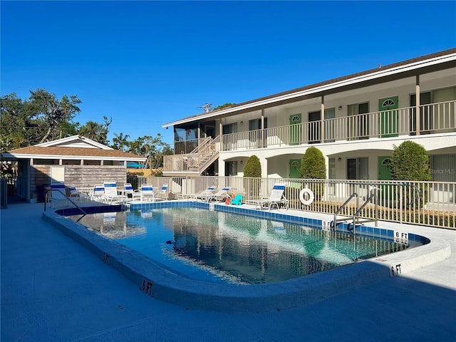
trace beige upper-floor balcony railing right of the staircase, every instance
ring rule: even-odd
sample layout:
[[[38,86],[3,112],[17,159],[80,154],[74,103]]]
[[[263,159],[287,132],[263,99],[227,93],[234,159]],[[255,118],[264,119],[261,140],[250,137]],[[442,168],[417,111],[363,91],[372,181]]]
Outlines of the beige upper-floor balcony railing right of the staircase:
[[[417,130],[418,127],[418,130]],[[456,131],[456,101],[222,135],[222,151]]]

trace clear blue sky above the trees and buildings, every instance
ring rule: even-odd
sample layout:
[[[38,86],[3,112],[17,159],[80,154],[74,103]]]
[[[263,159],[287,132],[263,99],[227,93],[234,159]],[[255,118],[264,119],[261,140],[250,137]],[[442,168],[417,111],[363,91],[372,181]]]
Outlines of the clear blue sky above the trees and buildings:
[[[456,46],[456,1],[1,1],[1,95],[82,100],[110,135]]]

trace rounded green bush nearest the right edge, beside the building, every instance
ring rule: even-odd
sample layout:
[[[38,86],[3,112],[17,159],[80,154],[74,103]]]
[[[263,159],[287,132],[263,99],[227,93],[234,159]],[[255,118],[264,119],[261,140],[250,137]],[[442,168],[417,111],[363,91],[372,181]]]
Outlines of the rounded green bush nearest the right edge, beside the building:
[[[404,141],[394,147],[390,157],[393,180],[431,180],[429,155],[425,147],[413,141]]]

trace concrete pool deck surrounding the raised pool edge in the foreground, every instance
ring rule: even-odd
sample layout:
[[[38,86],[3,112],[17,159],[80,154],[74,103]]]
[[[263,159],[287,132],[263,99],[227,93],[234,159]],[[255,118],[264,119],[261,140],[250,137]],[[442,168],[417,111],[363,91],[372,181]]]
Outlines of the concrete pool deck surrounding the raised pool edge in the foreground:
[[[146,296],[42,214],[43,204],[0,211],[1,341],[455,341],[452,230],[380,222],[452,254],[296,309],[228,314]]]

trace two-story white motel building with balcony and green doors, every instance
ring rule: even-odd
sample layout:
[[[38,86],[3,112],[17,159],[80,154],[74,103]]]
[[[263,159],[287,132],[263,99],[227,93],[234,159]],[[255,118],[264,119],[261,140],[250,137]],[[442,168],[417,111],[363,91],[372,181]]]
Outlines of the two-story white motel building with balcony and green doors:
[[[162,125],[174,129],[164,175],[242,176],[257,155],[262,177],[299,178],[309,146],[329,179],[390,180],[405,140],[430,154],[435,181],[456,181],[456,48],[257,98]]]

